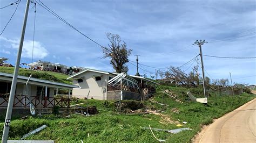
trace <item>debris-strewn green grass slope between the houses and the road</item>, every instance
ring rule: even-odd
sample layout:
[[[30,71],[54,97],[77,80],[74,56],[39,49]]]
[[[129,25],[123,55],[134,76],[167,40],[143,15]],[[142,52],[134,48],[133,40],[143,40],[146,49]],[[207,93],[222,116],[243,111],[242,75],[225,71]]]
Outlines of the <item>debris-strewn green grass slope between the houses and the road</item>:
[[[184,103],[173,101],[170,97],[161,94],[162,89],[170,89],[179,95]],[[89,99],[89,105],[96,105],[99,113],[94,116],[84,117],[71,115],[70,118],[55,117],[53,115],[29,117],[25,120],[12,120],[10,139],[20,139],[22,135],[42,126],[48,125],[43,131],[31,135],[28,139],[55,140],[56,142],[157,142],[150,130],[140,128],[151,127],[163,129],[176,129],[176,124],[189,127],[193,130],[183,131],[178,134],[153,131],[157,138],[166,139],[167,142],[190,142],[193,136],[205,124],[212,123],[212,119],[219,118],[242,104],[255,98],[255,95],[242,94],[239,96],[213,96],[208,98],[208,106],[187,100],[185,88],[159,86],[157,94],[146,102],[147,109],[161,110],[160,115],[142,113],[114,113],[113,103],[104,104],[104,101]],[[191,89],[192,94],[201,92],[201,89]],[[158,102],[158,103],[157,103]],[[73,101],[72,104],[86,103],[83,99]],[[162,106],[159,103],[164,103]],[[168,105],[168,106],[167,106]],[[86,106],[83,104],[82,106]],[[176,112],[173,112],[175,109]],[[180,121],[179,121],[180,120]],[[3,127],[4,119],[0,120]],[[89,137],[87,136],[89,133]],[[2,128],[0,129],[2,135]]]

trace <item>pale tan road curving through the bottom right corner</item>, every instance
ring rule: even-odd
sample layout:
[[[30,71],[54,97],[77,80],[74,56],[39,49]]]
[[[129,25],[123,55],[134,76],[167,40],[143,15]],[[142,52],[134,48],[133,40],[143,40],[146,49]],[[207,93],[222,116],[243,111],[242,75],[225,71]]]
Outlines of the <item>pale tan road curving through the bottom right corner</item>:
[[[256,98],[206,126],[193,142],[256,142]]]

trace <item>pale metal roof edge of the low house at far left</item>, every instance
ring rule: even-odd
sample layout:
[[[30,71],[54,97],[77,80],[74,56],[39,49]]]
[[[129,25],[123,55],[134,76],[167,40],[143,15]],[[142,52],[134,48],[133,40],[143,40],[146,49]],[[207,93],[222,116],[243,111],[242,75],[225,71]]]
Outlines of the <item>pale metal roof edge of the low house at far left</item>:
[[[13,74],[6,74],[6,73],[1,73],[0,72],[0,79],[1,77],[9,77],[12,78],[14,75]],[[23,80],[23,81],[27,81],[29,77],[26,76],[18,76],[18,80]],[[63,87],[63,88],[79,88],[77,85],[70,85],[70,84],[65,84],[65,83],[59,83],[59,82],[52,82],[52,81],[46,81],[46,80],[40,80],[38,78],[30,78],[30,81],[33,83],[44,83],[44,84],[48,84],[49,86],[53,85],[53,86],[58,86],[58,87]]]

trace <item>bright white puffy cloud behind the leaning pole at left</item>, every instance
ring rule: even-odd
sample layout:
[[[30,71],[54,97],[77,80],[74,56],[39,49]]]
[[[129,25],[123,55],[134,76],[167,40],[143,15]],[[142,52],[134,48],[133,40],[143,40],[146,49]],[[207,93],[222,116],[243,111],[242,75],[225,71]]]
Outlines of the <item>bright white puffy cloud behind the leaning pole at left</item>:
[[[18,39],[8,39],[8,38],[1,37],[0,40],[4,40],[5,42],[8,42],[12,48],[17,49],[19,47]],[[34,59],[44,59],[49,54],[47,49],[45,47],[43,47],[43,45],[39,41],[34,41],[33,52],[32,52],[32,47],[33,47],[32,40],[24,40],[23,49],[22,49],[22,57],[32,58],[32,53],[33,53]]]

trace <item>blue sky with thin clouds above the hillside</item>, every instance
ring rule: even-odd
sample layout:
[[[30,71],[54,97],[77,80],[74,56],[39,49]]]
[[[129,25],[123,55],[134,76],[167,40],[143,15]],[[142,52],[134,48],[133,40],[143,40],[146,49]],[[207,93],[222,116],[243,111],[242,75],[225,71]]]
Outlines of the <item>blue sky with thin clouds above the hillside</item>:
[[[0,0],[0,7],[14,1]],[[119,34],[127,47],[133,49],[129,59],[136,61],[134,55],[140,55],[139,62],[147,66],[183,65],[199,54],[198,46],[192,45],[196,39],[209,41],[203,45],[205,55],[256,57],[255,1],[41,1],[100,45],[108,44],[105,33]],[[25,3],[25,0],[21,1],[15,16],[0,36],[0,57],[9,58],[8,62],[12,64],[16,60]],[[31,62],[32,56],[32,6],[21,60],[26,63]],[[15,5],[0,10],[1,31],[14,10]],[[113,71],[109,59],[101,58],[102,49],[98,45],[39,5],[35,33],[33,61]],[[224,40],[226,37],[231,40]],[[224,41],[210,42],[218,39]],[[190,65],[181,68],[189,70]],[[204,57],[204,65],[212,78],[227,78],[231,72],[233,82],[256,84],[255,59]],[[129,74],[135,74],[136,67],[130,63],[128,66]],[[155,71],[155,68],[144,68]],[[139,70],[139,73],[147,72]]]

